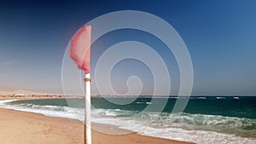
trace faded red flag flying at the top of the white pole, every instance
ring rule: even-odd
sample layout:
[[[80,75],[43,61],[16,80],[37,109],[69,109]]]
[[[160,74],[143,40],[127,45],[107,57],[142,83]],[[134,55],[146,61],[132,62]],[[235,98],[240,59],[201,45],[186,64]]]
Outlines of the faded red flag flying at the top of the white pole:
[[[91,26],[83,26],[71,39],[69,56],[85,73],[90,73]]]

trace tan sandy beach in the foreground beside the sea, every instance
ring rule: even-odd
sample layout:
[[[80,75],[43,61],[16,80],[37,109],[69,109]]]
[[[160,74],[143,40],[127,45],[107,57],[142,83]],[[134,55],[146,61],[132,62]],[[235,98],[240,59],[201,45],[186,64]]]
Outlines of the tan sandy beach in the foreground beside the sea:
[[[93,124],[105,130],[121,130],[110,125]],[[84,124],[68,118],[47,117],[32,112],[19,112],[0,108],[1,144],[83,144]],[[108,135],[92,131],[94,144],[186,144],[151,136],[131,133],[129,135]]]

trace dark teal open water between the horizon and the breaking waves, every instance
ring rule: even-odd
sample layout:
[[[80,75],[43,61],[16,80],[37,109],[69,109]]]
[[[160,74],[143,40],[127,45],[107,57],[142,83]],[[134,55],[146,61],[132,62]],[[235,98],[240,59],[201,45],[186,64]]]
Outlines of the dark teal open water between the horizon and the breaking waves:
[[[108,99],[121,99],[122,101],[126,101],[127,99],[133,98],[112,97]],[[151,100],[152,98],[150,97],[143,97],[137,98],[136,101],[133,101],[127,105],[116,105],[102,97],[91,98],[92,106],[96,109],[120,109],[132,112],[143,111],[145,107],[148,107],[148,104],[151,104]],[[159,98],[159,101],[160,100],[161,98]],[[176,101],[176,97],[170,97],[162,112],[172,112],[172,108],[174,107]],[[11,104],[24,103],[40,106],[49,105],[84,108],[84,99],[69,99],[68,102],[66,99],[22,100],[11,102]],[[68,103],[71,103],[71,105],[68,105]],[[73,103],[75,103],[75,105],[72,105]],[[154,112],[154,109],[150,110],[152,110],[151,112]],[[183,112],[191,114],[221,115],[237,118],[256,118],[256,96],[194,96],[189,98],[189,103]]]

